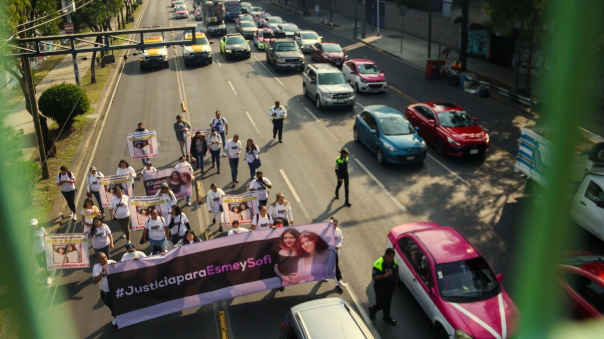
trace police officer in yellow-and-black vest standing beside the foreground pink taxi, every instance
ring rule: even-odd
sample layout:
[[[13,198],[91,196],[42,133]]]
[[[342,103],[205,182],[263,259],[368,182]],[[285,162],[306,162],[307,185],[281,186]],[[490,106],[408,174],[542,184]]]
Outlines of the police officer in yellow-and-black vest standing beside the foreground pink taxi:
[[[390,303],[394,288],[399,281],[399,265],[394,259],[394,250],[386,249],[384,256],[373,263],[373,290],[376,293],[376,304],[369,306],[369,318],[376,320],[376,312],[384,310],[384,321],[396,325],[396,320],[390,316]]]

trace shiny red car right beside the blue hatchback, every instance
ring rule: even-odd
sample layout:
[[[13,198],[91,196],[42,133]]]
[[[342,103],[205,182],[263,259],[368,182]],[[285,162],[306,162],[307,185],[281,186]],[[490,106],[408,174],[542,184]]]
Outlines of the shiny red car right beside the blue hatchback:
[[[405,115],[419,128],[419,135],[434,145],[441,155],[484,155],[489,152],[489,135],[475,124],[476,118],[467,115],[456,104],[437,101],[411,104]]]

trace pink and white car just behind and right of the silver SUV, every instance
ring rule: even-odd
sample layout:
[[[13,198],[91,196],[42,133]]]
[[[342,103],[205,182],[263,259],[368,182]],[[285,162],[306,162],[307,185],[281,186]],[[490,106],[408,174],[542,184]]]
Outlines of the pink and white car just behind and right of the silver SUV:
[[[356,92],[385,92],[388,86],[384,71],[368,59],[346,60],[342,73]]]

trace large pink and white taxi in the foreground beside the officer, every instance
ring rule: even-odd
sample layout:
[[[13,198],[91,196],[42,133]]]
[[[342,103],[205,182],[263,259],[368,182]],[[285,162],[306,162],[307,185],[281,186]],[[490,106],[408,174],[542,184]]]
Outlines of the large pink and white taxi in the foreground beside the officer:
[[[388,233],[400,280],[422,306],[437,338],[509,338],[518,308],[483,256],[463,235],[436,223],[410,223]]]

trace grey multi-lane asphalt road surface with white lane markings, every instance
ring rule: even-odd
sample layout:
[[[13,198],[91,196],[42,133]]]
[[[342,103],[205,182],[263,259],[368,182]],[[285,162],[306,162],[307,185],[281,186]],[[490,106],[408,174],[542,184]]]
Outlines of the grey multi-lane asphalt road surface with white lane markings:
[[[165,0],[147,1],[144,6],[140,27],[178,27],[195,22],[193,16],[170,21],[172,8]],[[504,273],[504,287],[510,287],[516,279],[511,262],[522,212],[516,198],[522,195],[524,183],[513,173],[513,163],[520,128],[528,119],[521,112],[464,93],[444,81],[426,80],[418,69],[329,30],[307,24],[300,17],[281,13],[277,8],[271,8],[271,13],[281,14],[301,29],[316,30],[324,40],[340,43],[351,58],[374,60],[384,69],[390,86],[403,95],[392,90],[385,94],[360,94],[358,104],[352,110],[320,111],[311,100],[302,96],[300,74],[276,74],[272,68],[267,68],[264,52],[257,51],[254,46],[250,59],[226,61],[219,52],[216,37],[212,45],[214,63],[208,66],[185,68],[180,47],[176,48],[176,56],[174,49],[169,49],[169,69],[141,72],[138,58],[129,57],[100,132],[99,147],[92,154],[92,164],[109,175],[115,173],[120,159],[130,161],[126,135],[137,128],[138,122],[143,122],[148,130],[158,134],[160,156],[152,159],[153,165],[158,169],[173,167],[180,156],[172,128],[175,116],[183,115],[193,128],[208,128],[214,112],[220,110],[229,124],[227,139],[239,134],[242,142],[252,138],[259,145],[261,170],[273,183],[270,199],[282,192],[292,203],[295,224],[338,218],[344,233],[340,265],[347,287],[339,292],[330,281],[288,287],[284,292],[265,291],[118,330],[111,325],[111,316],[99,298],[98,286],[92,285],[92,268],[63,271],[53,282],[53,290],[59,286],[59,292],[52,300],[53,309],[71,310],[81,338],[160,338],[170,335],[217,338],[216,314],[219,310],[226,311],[231,338],[274,338],[289,308],[307,300],[332,296],[344,297],[351,303],[358,299],[366,312],[367,306],[374,302],[371,265],[384,253],[388,230],[414,221],[434,221],[455,227],[481,250],[495,273]],[[228,29],[234,33],[234,24],[228,24]],[[164,38],[172,40],[169,33]],[[310,57],[307,61],[310,62]],[[275,100],[288,109],[283,144],[271,138],[268,111]],[[404,112],[413,101],[431,100],[452,101],[476,116],[491,136],[491,153],[484,158],[457,159],[438,156],[434,148],[429,147],[429,156],[423,164],[382,166],[370,150],[352,140],[355,116],[362,106],[385,104]],[[185,113],[181,113],[181,101],[185,101]],[[333,198],[336,185],[333,165],[338,150],[344,146],[352,153],[349,165],[352,208],[343,206],[343,198]],[[140,173],[140,160],[132,160],[130,164]],[[209,168],[206,157],[206,174],[201,176],[196,171],[197,179],[202,180],[204,195],[212,182],[227,194],[247,190],[249,172],[245,158],[240,160],[241,183],[235,189],[231,189],[226,158],[221,159],[221,167],[222,174],[218,175],[216,169]],[[286,183],[288,179],[291,187]],[[135,193],[144,195],[140,179],[135,184]],[[296,194],[300,201],[295,198]],[[182,200],[179,205],[184,206],[183,211],[196,233],[210,227],[205,204],[197,206],[193,203],[192,207],[187,207]],[[108,224],[115,239],[111,256],[119,261],[125,252],[126,240],[119,238],[121,231],[117,223],[110,221]],[[213,235],[223,236],[217,228],[217,225],[211,227]],[[225,227],[225,231],[229,229]],[[82,226],[77,223],[76,231],[81,230]],[[132,242],[137,246],[139,239],[140,232],[133,232]],[[147,245],[138,249],[149,253]],[[434,336],[431,322],[403,285],[394,295],[392,314],[399,322],[397,326],[387,325],[379,317],[374,322],[382,338]]]

